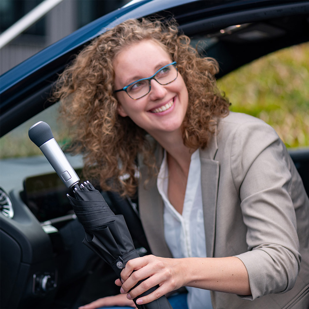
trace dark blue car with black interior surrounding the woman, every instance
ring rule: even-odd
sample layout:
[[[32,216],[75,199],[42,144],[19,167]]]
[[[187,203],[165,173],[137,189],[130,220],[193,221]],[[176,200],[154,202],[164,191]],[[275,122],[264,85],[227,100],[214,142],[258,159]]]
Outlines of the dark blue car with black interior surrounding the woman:
[[[220,63],[217,78],[276,50],[308,41],[308,1],[300,0],[142,0],[133,1],[80,28],[0,77],[0,134],[13,147],[15,132],[37,121],[56,128],[57,104],[51,89],[64,68],[84,46],[129,18],[173,16],[180,31],[203,41],[201,54]],[[59,131],[63,128],[57,126]],[[65,132],[53,130],[63,139]],[[64,136],[64,137],[63,137]],[[59,138],[58,138],[59,137]],[[26,141],[27,139],[27,141]],[[4,143],[4,142],[3,142]],[[17,147],[22,147],[22,142]],[[15,145],[16,146],[16,145]],[[33,145],[35,148],[36,146]],[[290,150],[308,194],[309,149]],[[80,156],[67,155],[83,179]],[[43,156],[2,159],[1,308],[76,308],[118,293],[115,274],[82,244],[83,227],[76,219],[62,184]],[[134,199],[102,192],[123,213],[140,255],[150,248]]]

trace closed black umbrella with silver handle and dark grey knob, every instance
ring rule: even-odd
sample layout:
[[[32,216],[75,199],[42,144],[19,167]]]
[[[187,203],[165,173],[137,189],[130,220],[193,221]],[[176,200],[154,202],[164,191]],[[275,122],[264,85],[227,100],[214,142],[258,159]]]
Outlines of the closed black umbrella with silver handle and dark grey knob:
[[[74,187],[74,197],[68,195],[68,198],[76,216],[84,226],[86,237],[83,243],[105,260],[121,279],[120,273],[125,264],[139,257],[124,217],[112,212],[102,194],[89,181],[78,185],[80,181],[78,175],[66,159],[46,122],[39,121],[32,125],[28,135],[32,142],[40,147],[67,188]],[[158,287],[155,286],[138,297],[150,294]],[[136,298],[133,301],[136,304]],[[165,296],[151,303],[136,306],[141,309],[172,309]]]

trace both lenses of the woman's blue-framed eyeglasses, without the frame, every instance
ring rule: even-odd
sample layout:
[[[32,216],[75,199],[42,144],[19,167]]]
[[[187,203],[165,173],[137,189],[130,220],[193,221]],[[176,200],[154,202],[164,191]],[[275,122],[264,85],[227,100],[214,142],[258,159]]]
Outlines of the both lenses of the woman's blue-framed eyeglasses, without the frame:
[[[161,85],[167,85],[177,78],[177,69],[174,65],[163,67],[151,79],[155,79]],[[133,83],[127,88],[127,93],[132,99],[139,99],[150,91],[150,80],[144,79]]]

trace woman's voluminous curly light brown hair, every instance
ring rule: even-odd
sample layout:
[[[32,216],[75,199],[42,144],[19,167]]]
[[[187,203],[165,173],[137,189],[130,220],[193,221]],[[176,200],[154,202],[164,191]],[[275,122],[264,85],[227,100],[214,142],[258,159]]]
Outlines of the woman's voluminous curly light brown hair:
[[[61,115],[71,130],[73,154],[82,153],[84,174],[97,178],[103,190],[132,196],[136,192],[136,158],[141,154],[149,178],[157,173],[154,143],[129,117],[117,112],[113,60],[125,47],[155,40],[177,62],[188,88],[189,102],[182,124],[184,145],[205,148],[218,117],[229,112],[214,74],[218,63],[200,57],[188,36],[178,33],[175,20],[127,20],[85,47],[59,76],[53,98],[61,100]]]

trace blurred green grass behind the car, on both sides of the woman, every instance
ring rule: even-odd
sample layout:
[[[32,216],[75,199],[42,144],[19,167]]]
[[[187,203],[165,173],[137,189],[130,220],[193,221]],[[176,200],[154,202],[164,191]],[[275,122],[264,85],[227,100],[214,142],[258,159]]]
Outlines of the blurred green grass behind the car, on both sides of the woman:
[[[231,110],[261,118],[277,131],[287,147],[309,146],[309,43],[262,57],[218,80]],[[37,121],[47,122],[60,144],[67,142],[57,122],[57,104],[0,139],[0,159],[41,155],[28,138]]]

